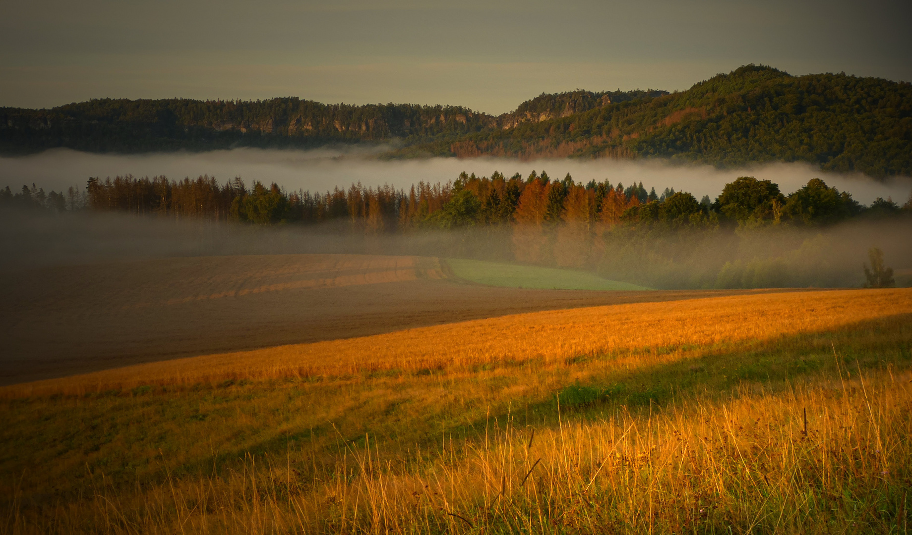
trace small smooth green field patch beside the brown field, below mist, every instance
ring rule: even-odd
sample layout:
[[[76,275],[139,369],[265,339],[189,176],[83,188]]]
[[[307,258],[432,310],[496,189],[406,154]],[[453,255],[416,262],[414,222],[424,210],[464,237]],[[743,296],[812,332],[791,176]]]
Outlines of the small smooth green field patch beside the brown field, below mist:
[[[637,284],[609,281],[593,273],[481,260],[447,260],[453,273],[472,283],[506,288],[554,290],[649,290]]]

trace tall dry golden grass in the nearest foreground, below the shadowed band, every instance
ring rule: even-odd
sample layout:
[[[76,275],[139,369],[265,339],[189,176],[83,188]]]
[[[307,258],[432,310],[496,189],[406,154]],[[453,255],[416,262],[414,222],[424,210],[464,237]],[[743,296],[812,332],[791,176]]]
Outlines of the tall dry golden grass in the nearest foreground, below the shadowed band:
[[[483,437],[403,459],[372,442],[308,478],[291,454],[221,475],[118,489],[10,533],[906,533],[909,375],[855,376],[650,415],[491,420]]]

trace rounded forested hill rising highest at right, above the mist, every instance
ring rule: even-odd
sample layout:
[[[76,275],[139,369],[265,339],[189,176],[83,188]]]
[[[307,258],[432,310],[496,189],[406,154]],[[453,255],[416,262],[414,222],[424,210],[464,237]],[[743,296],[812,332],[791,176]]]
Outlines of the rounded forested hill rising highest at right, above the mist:
[[[485,129],[433,154],[648,157],[731,166],[810,161],[824,170],[912,174],[912,85],[741,67],[687,91]]]

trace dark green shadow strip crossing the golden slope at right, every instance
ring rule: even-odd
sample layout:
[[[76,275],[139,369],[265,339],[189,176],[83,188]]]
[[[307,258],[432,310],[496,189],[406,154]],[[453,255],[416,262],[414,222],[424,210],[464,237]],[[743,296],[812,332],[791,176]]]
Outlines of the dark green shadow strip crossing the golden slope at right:
[[[873,345],[859,345],[858,338]],[[554,399],[530,409],[556,418],[559,398],[562,416],[602,417],[620,407],[631,411],[660,408],[676,397],[718,399],[752,393],[760,386],[775,391],[821,377],[838,380],[837,362],[849,375],[857,369],[912,365],[912,314],[860,322],[837,333],[799,334],[742,350],[685,357],[634,373],[601,376],[587,383],[577,381],[554,393]]]

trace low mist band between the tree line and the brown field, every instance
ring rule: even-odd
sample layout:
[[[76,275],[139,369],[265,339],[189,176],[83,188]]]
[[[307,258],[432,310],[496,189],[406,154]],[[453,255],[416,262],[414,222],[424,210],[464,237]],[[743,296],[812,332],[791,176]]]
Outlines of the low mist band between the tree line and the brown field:
[[[829,227],[613,228],[578,237],[557,225],[374,233],[347,221],[259,226],[117,212],[0,211],[0,270],[180,256],[357,253],[523,262],[595,272],[660,289],[858,287],[878,247],[912,285],[907,217]],[[534,243],[533,243],[534,242]],[[129,268],[127,268],[129,269]]]

